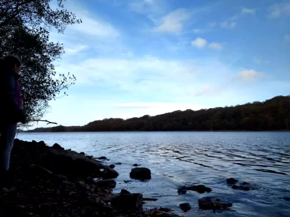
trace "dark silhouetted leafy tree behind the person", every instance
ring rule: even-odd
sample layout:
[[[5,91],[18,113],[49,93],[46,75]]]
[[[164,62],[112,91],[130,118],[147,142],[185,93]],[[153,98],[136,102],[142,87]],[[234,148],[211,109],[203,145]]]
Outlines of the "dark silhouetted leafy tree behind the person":
[[[60,91],[74,84],[76,77],[59,74],[53,62],[64,53],[63,45],[49,41],[49,30],[63,33],[69,24],[81,23],[76,16],[63,10],[63,0],[0,0],[0,57],[16,55],[23,62],[21,93],[24,109],[31,119],[40,119],[48,102],[57,99]]]

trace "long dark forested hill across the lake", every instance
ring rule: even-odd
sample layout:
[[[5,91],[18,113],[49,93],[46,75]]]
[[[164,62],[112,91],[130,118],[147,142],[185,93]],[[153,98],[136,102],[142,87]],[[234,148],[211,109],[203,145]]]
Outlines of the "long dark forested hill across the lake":
[[[175,111],[140,118],[109,118],[84,126],[36,128],[27,132],[65,131],[219,131],[289,130],[290,96],[276,96],[264,102],[193,111]]]

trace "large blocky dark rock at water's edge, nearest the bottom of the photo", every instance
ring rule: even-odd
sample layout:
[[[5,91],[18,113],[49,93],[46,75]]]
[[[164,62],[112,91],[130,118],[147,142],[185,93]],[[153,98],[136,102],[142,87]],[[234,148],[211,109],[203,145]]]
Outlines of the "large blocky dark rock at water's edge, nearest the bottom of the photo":
[[[111,200],[111,205],[116,209],[139,210],[143,207],[141,193],[119,194]]]

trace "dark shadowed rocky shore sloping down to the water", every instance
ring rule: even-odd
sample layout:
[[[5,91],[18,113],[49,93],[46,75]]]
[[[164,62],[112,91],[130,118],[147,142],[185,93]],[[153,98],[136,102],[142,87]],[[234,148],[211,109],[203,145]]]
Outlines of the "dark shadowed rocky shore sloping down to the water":
[[[0,189],[0,216],[178,216],[166,208],[143,211],[140,193],[112,193],[118,175],[85,153],[15,139],[8,181]]]

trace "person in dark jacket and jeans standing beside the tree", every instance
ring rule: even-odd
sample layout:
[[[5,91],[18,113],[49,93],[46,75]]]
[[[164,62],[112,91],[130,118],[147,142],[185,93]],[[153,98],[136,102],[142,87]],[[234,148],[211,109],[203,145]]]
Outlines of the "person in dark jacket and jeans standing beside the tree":
[[[22,62],[16,56],[6,56],[0,60],[0,173],[2,179],[8,177],[10,154],[17,130],[17,123],[27,123],[27,115],[22,109],[23,101],[19,86]]]

